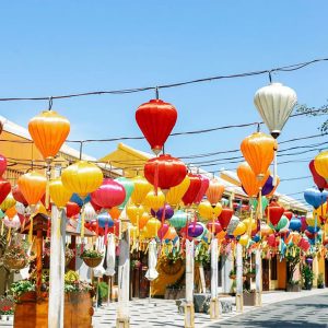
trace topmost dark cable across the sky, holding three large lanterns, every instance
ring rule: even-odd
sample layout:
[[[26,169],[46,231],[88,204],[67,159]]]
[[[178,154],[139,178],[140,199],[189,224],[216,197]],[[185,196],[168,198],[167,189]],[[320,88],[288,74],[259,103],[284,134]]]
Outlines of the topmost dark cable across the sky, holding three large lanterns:
[[[13,101],[49,101],[52,102],[52,99],[62,99],[62,98],[73,98],[73,97],[82,97],[82,96],[91,96],[91,95],[104,95],[104,94],[131,94],[131,93],[139,93],[144,91],[154,91],[157,92],[161,89],[171,89],[171,87],[177,87],[177,86],[184,86],[188,84],[198,84],[203,82],[211,82],[211,81],[218,81],[218,80],[226,80],[226,79],[238,79],[238,78],[247,78],[247,77],[255,77],[255,75],[261,75],[261,74],[268,74],[269,78],[271,78],[272,72],[291,72],[296,71],[300,69],[303,69],[307,66],[317,63],[317,62],[324,62],[328,61],[328,58],[317,58],[305,62],[300,63],[293,63],[289,66],[283,67],[277,67],[272,69],[266,69],[266,70],[258,70],[258,71],[250,71],[250,72],[243,72],[243,73],[236,73],[236,74],[229,74],[229,75],[214,75],[210,78],[201,78],[196,80],[189,80],[189,81],[183,81],[177,83],[168,83],[168,84],[160,84],[160,85],[153,85],[153,86],[143,86],[143,87],[133,87],[133,89],[122,89],[122,90],[110,90],[110,91],[91,91],[91,92],[82,92],[82,93],[72,93],[72,94],[65,94],[65,95],[52,95],[52,96],[38,96],[38,97],[2,97],[0,98],[0,102],[13,102]]]

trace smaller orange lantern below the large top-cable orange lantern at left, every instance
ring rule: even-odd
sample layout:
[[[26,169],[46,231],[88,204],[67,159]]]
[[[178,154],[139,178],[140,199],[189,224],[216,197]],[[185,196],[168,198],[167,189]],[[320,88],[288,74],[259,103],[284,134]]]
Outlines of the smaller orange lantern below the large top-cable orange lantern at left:
[[[36,206],[46,192],[47,179],[37,172],[28,172],[19,177],[17,185],[30,206]]]

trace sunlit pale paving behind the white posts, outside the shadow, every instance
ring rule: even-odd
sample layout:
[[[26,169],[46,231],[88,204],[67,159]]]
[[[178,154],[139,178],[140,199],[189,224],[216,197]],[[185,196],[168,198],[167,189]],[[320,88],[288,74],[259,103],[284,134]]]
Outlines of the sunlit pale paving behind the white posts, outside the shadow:
[[[270,304],[296,300],[306,296],[315,296],[320,294],[328,294],[328,289],[312,291],[302,291],[298,293],[286,292],[267,292],[262,294],[262,307]],[[235,297],[227,297],[235,303]],[[115,327],[116,325],[116,309],[117,303],[110,303],[109,306],[102,306],[95,311],[93,317],[93,327]],[[255,306],[244,306],[243,313],[249,313],[258,309]],[[223,314],[220,319],[211,320],[207,314],[195,314],[195,327],[220,327],[213,324],[229,321],[229,319],[241,315],[236,313],[235,305],[233,312]],[[131,327],[184,327],[184,315],[179,314],[175,301],[172,300],[134,300],[130,302],[130,326]]]

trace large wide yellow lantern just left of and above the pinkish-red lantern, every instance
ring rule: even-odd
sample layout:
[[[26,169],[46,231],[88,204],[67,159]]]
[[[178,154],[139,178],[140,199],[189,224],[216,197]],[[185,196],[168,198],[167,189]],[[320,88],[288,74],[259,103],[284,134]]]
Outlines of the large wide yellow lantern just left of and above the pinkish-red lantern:
[[[95,164],[79,161],[62,171],[61,181],[71,192],[85,198],[102,185],[103,173]]]

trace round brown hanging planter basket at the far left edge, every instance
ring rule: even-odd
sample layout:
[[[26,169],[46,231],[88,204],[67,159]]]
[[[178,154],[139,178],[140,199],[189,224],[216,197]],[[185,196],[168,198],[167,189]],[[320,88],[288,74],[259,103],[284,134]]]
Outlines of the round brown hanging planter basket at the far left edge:
[[[9,270],[21,270],[28,265],[28,255],[24,245],[10,245],[3,255],[3,265]]]

